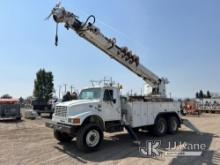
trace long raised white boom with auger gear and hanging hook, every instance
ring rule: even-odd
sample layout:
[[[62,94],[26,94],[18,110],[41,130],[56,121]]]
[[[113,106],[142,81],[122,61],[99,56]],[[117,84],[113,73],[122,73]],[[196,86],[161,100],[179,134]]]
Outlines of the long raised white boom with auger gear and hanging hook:
[[[165,85],[168,83],[166,78],[159,78],[149,69],[139,62],[139,57],[132,53],[127,47],[120,47],[116,44],[116,39],[106,37],[100,29],[94,26],[95,17],[89,16],[86,22],[81,22],[76,15],[66,11],[60,5],[53,8],[51,15],[55,22],[64,23],[67,29],[74,30],[80,37],[89,41],[91,44],[105,52],[111,58],[131,70],[133,73],[143,78],[152,87],[152,95],[166,97]],[[89,22],[93,19],[93,22]],[[56,42],[58,38],[56,36]],[[57,44],[57,43],[56,43]]]

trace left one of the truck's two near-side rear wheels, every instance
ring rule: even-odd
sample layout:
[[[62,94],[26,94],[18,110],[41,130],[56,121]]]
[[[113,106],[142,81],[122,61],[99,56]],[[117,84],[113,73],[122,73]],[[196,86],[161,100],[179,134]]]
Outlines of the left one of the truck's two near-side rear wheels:
[[[159,117],[152,127],[152,132],[155,136],[164,136],[167,133],[167,121],[163,117]]]

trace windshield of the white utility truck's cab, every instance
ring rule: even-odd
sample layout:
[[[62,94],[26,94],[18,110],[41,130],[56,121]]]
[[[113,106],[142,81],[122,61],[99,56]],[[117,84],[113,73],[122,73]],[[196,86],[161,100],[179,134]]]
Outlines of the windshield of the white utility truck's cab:
[[[101,88],[90,88],[84,89],[79,95],[80,100],[94,100],[100,99],[101,97]]]

